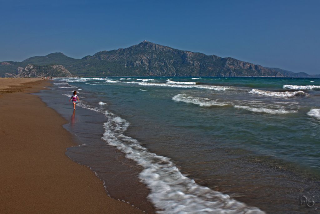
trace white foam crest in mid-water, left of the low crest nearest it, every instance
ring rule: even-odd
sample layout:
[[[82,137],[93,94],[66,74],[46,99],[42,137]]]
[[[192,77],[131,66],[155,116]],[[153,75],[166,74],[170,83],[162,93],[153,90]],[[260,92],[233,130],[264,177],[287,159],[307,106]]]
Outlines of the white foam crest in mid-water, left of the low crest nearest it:
[[[226,106],[228,104],[223,102],[216,102],[210,100],[208,98],[195,98],[191,96],[187,96],[185,94],[177,94],[176,96],[172,97],[172,100],[176,102],[185,102],[185,103],[193,103],[201,107],[210,107],[210,106]]]

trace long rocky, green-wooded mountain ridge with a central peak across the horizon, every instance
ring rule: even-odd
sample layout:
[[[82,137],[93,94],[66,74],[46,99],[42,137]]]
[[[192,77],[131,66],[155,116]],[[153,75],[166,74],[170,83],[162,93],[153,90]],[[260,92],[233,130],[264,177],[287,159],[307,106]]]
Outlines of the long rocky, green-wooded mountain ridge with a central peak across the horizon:
[[[231,57],[222,58],[178,50],[148,41],[127,48],[100,51],[82,59],[52,53],[30,57],[22,62],[1,62],[0,76],[5,73],[17,75],[18,67],[26,67],[28,64],[38,66],[37,69],[42,69],[44,74],[46,70],[52,72],[52,68],[45,66],[61,65],[77,76],[311,77],[306,73],[263,67]]]

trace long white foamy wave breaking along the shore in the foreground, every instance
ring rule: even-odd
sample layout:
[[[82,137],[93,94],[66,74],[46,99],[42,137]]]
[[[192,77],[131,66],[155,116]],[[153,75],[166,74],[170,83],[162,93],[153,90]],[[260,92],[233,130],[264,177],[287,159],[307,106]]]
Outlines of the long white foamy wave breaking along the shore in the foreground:
[[[150,189],[148,198],[158,209],[156,213],[265,214],[182,175],[170,158],[149,152],[139,141],[124,135],[130,124],[121,117],[97,107],[79,105],[103,113],[107,122],[103,125],[102,139],[143,167],[139,178]]]

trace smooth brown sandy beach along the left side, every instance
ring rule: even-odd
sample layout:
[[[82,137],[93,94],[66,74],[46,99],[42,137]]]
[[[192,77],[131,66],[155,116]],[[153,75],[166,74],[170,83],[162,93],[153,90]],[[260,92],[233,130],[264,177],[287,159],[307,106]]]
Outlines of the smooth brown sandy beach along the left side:
[[[0,213],[142,213],[65,155],[67,121],[30,94],[49,84],[0,78]]]

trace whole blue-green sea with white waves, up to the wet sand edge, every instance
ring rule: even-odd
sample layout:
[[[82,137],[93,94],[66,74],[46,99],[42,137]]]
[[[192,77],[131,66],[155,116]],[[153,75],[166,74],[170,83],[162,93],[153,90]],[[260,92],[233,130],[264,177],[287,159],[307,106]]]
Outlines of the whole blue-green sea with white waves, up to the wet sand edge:
[[[66,155],[116,200],[160,214],[320,213],[319,78],[52,82],[37,95],[67,121],[78,145]]]

